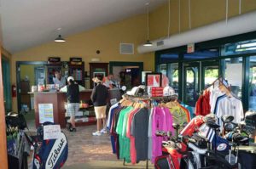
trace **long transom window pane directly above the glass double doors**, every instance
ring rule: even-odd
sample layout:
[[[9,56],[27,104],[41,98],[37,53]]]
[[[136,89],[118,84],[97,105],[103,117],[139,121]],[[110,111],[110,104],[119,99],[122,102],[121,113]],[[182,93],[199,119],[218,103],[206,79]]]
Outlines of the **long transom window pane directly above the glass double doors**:
[[[209,58],[217,58],[218,50],[217,49],[209,49],[203,51],[196,51],[191,54],[184,54],[184,59],[209,59]]]

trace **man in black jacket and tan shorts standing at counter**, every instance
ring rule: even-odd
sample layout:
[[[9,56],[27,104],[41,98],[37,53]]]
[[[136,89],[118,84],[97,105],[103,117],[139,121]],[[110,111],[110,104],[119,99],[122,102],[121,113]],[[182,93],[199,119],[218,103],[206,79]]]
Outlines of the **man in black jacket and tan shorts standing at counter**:
[[[102,85],[102,77],[95,77],[92,79],[96,82],[96,86],[93,88],[90,99],[93,102],[94,110],[97,119],[97,131],[92,132],[94,136],[101,136],[102,133],[107,133],[106,130],[106,109],[108,99],[108,88]],[[103,124],[103,127],[102,127]]]

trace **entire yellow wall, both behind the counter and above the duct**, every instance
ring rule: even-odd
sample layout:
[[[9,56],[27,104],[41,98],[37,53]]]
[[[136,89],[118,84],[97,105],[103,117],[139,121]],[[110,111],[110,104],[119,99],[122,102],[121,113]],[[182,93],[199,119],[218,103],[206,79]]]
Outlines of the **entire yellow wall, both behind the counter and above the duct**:
[[[171,0],[170,35],[179,32],[178,7],[179,0]],[[180,0],[180,31],[189,30],[189,0]],[[224,0],[190,0],[191,28],[207,25],[225,19]],[[238,14],[239,0],[229,1],[229,17]],[[256,9],[256,0],[242,0],[241,13]],[[109,61],[143,61],[144,70],[154,70],[154,53],[137,54],[137,45],[142,44],[146,37],[146,14],[133,16],[113,24],[103,25],[90,31],[67,37],[65,43],[48,42],[38,47],[29,48],[12,56],[12,83],[16,82],[16,61],[46,61],[49,56],[60,56],[62,61],[71,56],[82,57],[85,70],[89,70],[92,58],[101,62]],[[149,14],[149,37],[151,40],[167,37],[168,33],[168,3],[156,8]],[[135,54],[119,54],[119,42],[134,43]],[[101,54],[96,54],[96,50]],[[14,99],[14,110],[17,110]]]

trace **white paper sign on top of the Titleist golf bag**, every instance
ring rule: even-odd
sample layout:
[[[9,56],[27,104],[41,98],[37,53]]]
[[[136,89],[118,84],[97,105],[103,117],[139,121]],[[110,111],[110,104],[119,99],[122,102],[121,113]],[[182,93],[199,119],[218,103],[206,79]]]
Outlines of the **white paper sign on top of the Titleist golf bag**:
[[[44,140],[58,139],[61,136],[60,125],[46,125],[44,126]]]

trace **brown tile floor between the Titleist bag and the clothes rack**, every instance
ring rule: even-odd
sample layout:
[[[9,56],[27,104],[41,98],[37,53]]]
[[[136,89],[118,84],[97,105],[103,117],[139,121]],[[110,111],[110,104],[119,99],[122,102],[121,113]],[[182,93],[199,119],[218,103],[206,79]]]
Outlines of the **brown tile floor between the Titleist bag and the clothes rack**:
[[[32,132],[35,132],[34,121],[27,121]],[[77,132],[68,132],[66,128],[62,131],[67,136],[68,158],[63,169],[80,168],[146,168],[146,162],[137,165],[125,164],[117,160],[113,155],[110,137],[108,134],[92,136],[96,125],[77,127]],[[149,164],[150,162],[148,162]],[[154,168],[149,164],[148,168]]]

